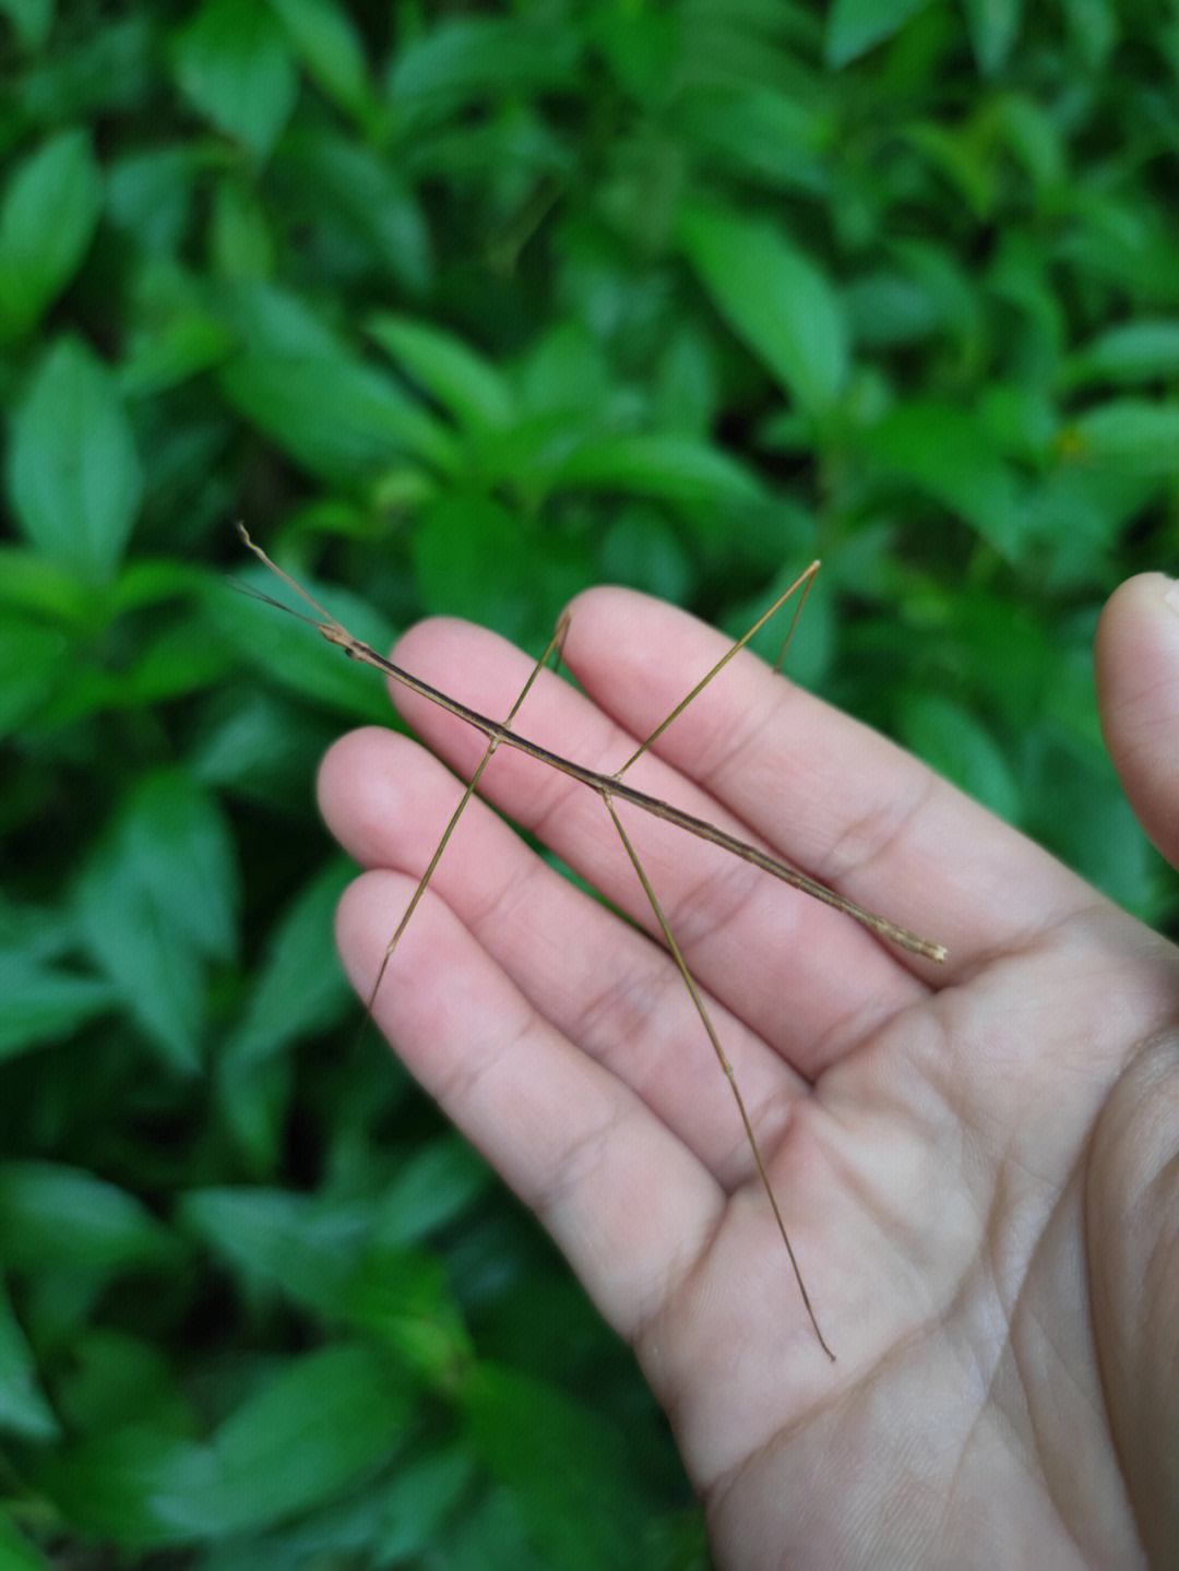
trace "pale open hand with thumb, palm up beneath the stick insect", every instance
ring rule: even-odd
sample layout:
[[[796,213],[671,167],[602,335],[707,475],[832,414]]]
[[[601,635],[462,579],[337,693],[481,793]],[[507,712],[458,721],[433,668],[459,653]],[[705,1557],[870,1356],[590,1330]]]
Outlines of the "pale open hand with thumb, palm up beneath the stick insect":
[[[1097,636],[1102,726],[1179,861],[1179,608]],[[724,652],[595,589],[515,729],[609,771]],[[399,665],[506,715],[531,663],[469,624]],[[452,768],[485,742],[402,690]],[[743,654],[628,781],[950,950],[903,954],[675,826],[620,817],[708,1001],[837,1362],[816,1345],[732,1097],[656,944],[480,801],[375,1018],[537,1210],[670,1415],[721,1568],[1168,1566],[1179,1543],[1179,950],[909,754]],[[480,790],[636,922],[601,801],[501,748]],[[366,867],[338,922],[367,996],[457,800],[366,729],[320,773]]]

